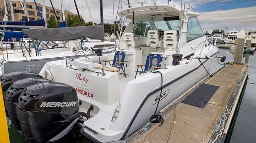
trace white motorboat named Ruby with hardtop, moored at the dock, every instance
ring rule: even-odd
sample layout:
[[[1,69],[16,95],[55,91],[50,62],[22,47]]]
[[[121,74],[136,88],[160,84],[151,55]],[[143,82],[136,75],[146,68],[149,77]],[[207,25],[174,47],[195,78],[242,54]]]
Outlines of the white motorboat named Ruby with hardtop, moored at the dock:
[[[93,142],[125,140],[132,135],[151,115],[208,76],[210,58],[218,52],[215,43],[204,36],[197,19],[200,14],[192,8],[185,11],[175,5],[148,5],[128,8],[118,15],[131,22],[121,33],[116,53],[47,62],[40,72],[45,78],[74,87],[81,112],[94,107],[91,118],[79,123],[81,133]],[[119,69],[108,65],[116,54],[124,52]],[[195,59],[184,58],[187,55]],[[162,59],[154,59],[157,57]],[[99,64],[104,60],[106,66]],[[148,72],[136,77],[137,69],[145,63]]]

